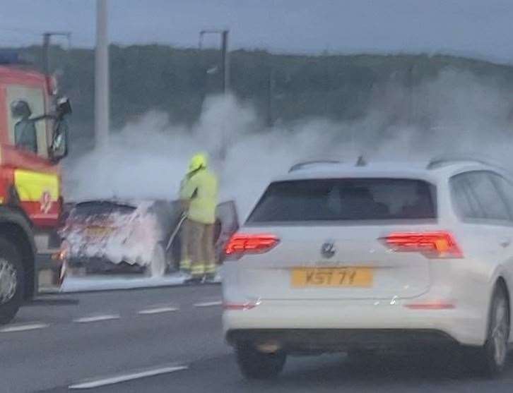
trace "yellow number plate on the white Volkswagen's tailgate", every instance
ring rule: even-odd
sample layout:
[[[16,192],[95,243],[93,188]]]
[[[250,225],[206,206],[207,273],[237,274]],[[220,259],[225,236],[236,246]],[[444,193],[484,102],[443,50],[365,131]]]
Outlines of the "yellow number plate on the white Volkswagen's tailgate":
[[[372,286],[372,267],[296,267],[292,286]]]

